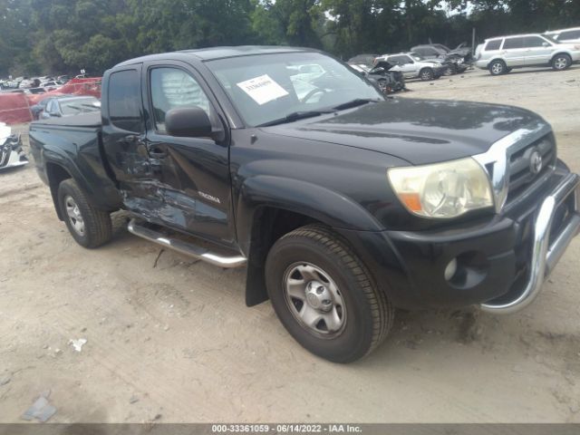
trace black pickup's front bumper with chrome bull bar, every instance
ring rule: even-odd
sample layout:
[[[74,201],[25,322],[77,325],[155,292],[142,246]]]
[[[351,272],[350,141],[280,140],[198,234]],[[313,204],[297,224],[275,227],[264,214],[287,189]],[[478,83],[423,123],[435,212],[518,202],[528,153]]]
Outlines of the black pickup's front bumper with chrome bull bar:
[[[507,314],[533,302],[578,234],[580,177],[559,169],[546,189],[506,215],[432,231],[343,230],[395,306],[480,304]],[[449,278],[446,267],[457,262]],[[449,278],[449,279],[448,279]]]

